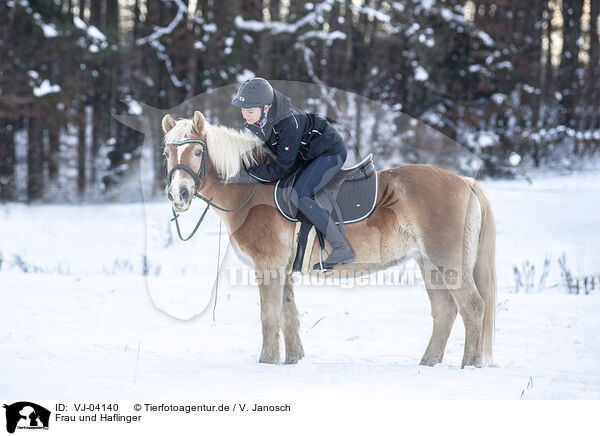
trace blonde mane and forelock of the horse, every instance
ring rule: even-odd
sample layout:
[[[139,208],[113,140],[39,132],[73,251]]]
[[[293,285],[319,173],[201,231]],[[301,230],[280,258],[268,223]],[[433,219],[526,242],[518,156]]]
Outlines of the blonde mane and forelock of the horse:
[[[208,157],[219,178],[231,179],[244,167],[250,168],[271,155],[268,148],[258,138],[244,135],[242,132],[225,126],[204,123],[204,136]],[[194,135],[194,122],[191,119],[179,119],[165,135],[165,143],[179,142]]]

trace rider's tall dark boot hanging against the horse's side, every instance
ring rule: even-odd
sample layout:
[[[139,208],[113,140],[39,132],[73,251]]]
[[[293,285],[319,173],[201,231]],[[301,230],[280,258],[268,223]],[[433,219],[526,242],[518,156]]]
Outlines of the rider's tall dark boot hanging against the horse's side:
[[[336,265],[354,262],[354,250],[352,250],[352,247],[325,209],[310,197],[299,199],[298,209],[314,224],[331,245],[332,251],[327,259],[323,261],[323,269],[332,269]],[[321,264],[315,264],[313,269],[321,269]]]

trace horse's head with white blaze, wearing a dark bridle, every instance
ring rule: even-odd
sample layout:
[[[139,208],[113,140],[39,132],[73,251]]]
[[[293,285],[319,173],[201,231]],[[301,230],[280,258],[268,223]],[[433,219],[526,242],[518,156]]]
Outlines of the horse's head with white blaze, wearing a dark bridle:
[[[206,123],[201,112],[175,121],[170,115],[162,120],[165,133],[164,156],[167,159],[167,196],[177,212],[189,209],[194,194],[206,173]]]

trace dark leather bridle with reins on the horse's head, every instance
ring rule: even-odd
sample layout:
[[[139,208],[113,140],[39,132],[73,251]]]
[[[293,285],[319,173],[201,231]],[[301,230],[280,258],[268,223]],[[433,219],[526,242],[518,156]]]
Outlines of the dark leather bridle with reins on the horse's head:
[[[188,173],[192,179],[194,180],[194,186],[195,186],[195,191],[194,191],[194,197],[198,197],[201,200],[204,200],[206,202],[206,208],[204,209],[204,212],[202,212],[202,215],[200,215],[200,219],[198,219],[198,223],[196,224],[196,227],[194,227],[194,230],[192,230],[192,233],[190,233],[190,235],[187,238],[184,238],[183,236],[181,236],[181,229],[179,228],[179,215],[175,212],[175,209],[173,207],[171,207],[171,210],[173,212],[173,218],[171,219],[171,221],[175,221],[175,226],[177,227],[177,235],[179,236],[179,239],[181,239],[182,241],[189,241],[192,236],[194,236],[194,234],[196,234],[196,231],[200,228],[200,224],[202,224],[202,221],[204,220],[204,217],[206,216],[206,213],[208,212],[208,209],[210,208],[210,206],[214,207],[215,209],[218,209],[220,211],[223,212],[235,212],[237,210],[242,209],[243,207],[245,207],[248,203],[250,203],[250,200],[252,200],[252,197],[254,197],[254,194],[256,193],[256,189],[258,188],[258,182],[254,183],[254,188],[252,189],[252,192],[250,193],[250,196],[246,199],[246,201],[244,201],[244,203],[242,203],[241,206],[238,206],[236,208],[233,209],[225,209],[221,206],[217,206],[216,204],[214,204],[212,202],[212,198],[206,198],[200,194],[198,194],[198,189],[200,189],[200,185],[202,185],[202,180],[204,179],[204,175],[206,174],[206,142],[200,140],[200,139],[186,139],[183,141],[179,141],[179,142],[168,142],[165,144],[165,146],[176,146],[179,147],[181,145],[186,145],[186,144],[200,144],[202,145],[202,154],[200,155],[200,169],[197,173],[194,172],[194,170],[192,170],[189,166],[184,165],[184,164],[175,164],[171,167],[171,169],[169,170],[168,174],[167,174],[167,179],[169,181],[169,185],[171,184],[171,178],[173,177],[173,173],[177,170],[182,170],[185,171],[186,173]]]

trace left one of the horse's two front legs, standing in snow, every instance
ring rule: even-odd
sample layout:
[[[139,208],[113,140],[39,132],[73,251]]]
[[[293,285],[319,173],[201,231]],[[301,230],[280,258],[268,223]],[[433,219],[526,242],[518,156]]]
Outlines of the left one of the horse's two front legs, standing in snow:
[[[256,279],[260,290],[260,321],[263,334],[263,346],[258,361],[260,363],[278,363],[283,273],[257,270]]]

